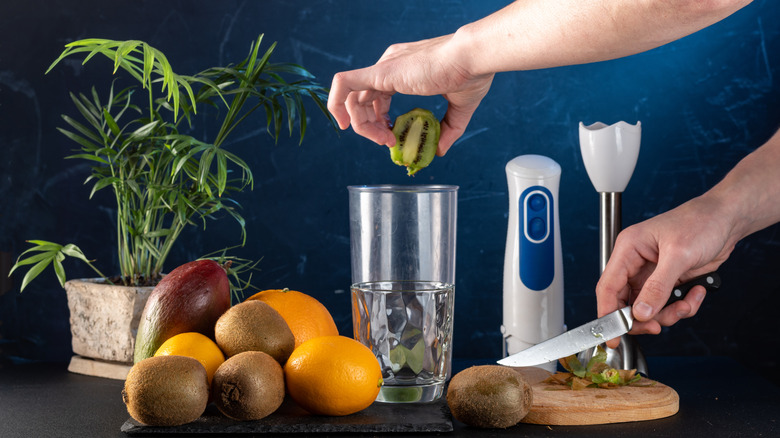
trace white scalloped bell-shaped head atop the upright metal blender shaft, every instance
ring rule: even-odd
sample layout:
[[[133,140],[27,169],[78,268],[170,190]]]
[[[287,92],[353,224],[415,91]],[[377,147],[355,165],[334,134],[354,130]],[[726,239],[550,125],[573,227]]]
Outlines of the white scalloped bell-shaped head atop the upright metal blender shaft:
[[[622,193],[639,157],[642,124],[580,122],[580,152],[585,170],[599,193]]]

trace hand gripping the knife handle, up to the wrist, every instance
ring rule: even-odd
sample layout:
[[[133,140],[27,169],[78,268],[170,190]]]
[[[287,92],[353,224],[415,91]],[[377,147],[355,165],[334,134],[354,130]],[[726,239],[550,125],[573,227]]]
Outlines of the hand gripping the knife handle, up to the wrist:
[[[664,305],[676,284],[716,270],[731,254],[737,239],[722,212],[705,195],[623,230],[596,286],[599,316],[633,303],[631,333],[658,334],[695,315],[706,294],[702,286]]]

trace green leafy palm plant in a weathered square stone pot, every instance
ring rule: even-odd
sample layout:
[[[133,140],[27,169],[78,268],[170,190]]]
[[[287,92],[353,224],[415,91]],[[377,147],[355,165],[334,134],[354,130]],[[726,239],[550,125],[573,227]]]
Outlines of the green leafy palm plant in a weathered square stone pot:
[[[146,297],[161,278],[166,258],[185,228],[205,226],[215,213],[223,212],[238,223],[242,244],[245,242],[244,219],[233,196],[252,187],[252,171],[244,160],[223,147],[239,124],[262,109],[267,131],[275,141],[285,125],[291,136],[297,126],[303,141],[306,99],[311,99],[334,123],[323,103],[327,90],[298,65],[271,63],[275,43],[261,56],[262,38],[260,35],[251,44],[249,54],[238,64],[209,68],[191,76],[177,74],[161,51],[135,40],[72,42],[47,70],[67,57],[83,55],[84,64],[95,57],[107,57],[113,62],[114,73],[124,71],[133,82],[119,89],[119,79],[115,79],[102,97],[95,87],[89,94],[71,93],[80,120],[63,115],[68,127],[58,128],[78,145],[76,153],[66,158],[90,165],[86,180],[92,184],[90,198],[103,189],[113,191],[119,274],[104,275],[74,244],[43,240],[30,240],[32,247],[19,256],[11,271],[31,265],[22,280],[23,290],[53,265],[68,292],[73,350],[77,355],[132,362],[134,330]],[[288,77],[294,80],[285,79]],[[199,140],[186,132],[198,111],[206,107],[224,114],[212,141]],[[187,122],[184,126],[183,121]],[[99,278],[66,281],[62,265],[66,257],[83,261]],[[231,278],[233,286],[240,287],[235,270]],[[109,291],[114,286],[122,291]],[[92,291],[93,287],[99,290]],[[121,306],[106,302],[115,296]],[[123,310],[115,312],[120,308]],[[112,326],[123,333],[105,333]],[[98,341],[108,341],[109,345],[97,345]],[[103,374],[94,371],[92,374]]]

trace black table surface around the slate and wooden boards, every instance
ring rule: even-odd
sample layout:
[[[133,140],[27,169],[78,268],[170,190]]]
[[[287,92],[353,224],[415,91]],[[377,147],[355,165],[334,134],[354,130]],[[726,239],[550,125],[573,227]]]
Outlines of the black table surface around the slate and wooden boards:
[[[453,371],[487,361],[456,361]],[[469,437],[780,437],[780,387],[725,357],[650,357],[650,377],[674,388],[680,411],[659,420],[596,426],[519,424],[429,435]],[[127,437],[123,382],[73,374],[63,364],[0,368],[0,437]],[[400,436],[398,433],[387,436]],[[286,436],[290,436],[286,434]],[[330,435],[321,435],[330,436]],[[360,436],[349,434],[348,436]]]

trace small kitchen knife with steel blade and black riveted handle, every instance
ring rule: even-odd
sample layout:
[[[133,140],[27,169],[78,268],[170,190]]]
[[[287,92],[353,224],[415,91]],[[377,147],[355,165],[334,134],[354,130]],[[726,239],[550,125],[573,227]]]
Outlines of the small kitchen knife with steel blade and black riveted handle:
[[[694,286],[704,286],[707,291],[716,290],[720,287],[720,276],[717,272],[710,272],[676,286],[672,290],[669,301],[666,304],[669,305],[685,298],[685,295]],[[585,351],[588,348],[593,348],[609,339],[622,336],[631,330],[633,324],[634,317],[631,316],[631,306],[626,306],[595,321],[583,324],[552,339],[526,348],[519,353],[507,356],[499,360],[498,363],[513,367],[528,367],[548,363]]]

